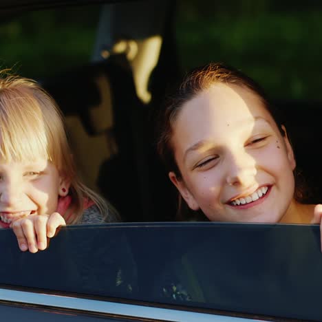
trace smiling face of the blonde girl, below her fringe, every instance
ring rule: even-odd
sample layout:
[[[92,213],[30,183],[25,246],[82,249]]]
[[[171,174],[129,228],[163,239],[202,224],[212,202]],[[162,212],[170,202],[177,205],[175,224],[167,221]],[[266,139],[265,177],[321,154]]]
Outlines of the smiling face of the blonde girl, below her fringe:
[[[48,160],[0,162],[0,228],[30,214],[51,215],[67,188]]]

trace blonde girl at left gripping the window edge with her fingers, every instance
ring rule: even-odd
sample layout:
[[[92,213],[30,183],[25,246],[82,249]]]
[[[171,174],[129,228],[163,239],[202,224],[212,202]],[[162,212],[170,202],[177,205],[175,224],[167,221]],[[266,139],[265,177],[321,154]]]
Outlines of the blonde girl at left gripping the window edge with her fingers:
[[[19,248],[47,247],[58,226],[114,222],[118,215],[76,175],[61,112],[39,84],[0,78],[0,227]]]

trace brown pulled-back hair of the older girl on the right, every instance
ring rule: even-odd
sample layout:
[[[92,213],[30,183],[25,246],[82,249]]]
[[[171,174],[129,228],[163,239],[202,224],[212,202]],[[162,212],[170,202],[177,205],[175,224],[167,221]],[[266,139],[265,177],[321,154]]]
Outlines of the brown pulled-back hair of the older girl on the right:
[[[257,96],[264,104],[264,107],[266,107],[266,109],[272,115],[272,118],[275,120],[282,136],[286,135],[282,128],[283,117],[281,115],[281,111],[279,111],[279,109],[277,109],[270,103],[264,90],[252,78],[246,76],[239,70],[222,63],[210,63],[208,65],[193,69],[192,72],[184,77],[184,80],[182,81],[178,89],[176,89],[173,94],[169,95],[165,102],[164,109],[161,109],[158,116],[158,154],[167,167],[167,171],[173,171],[178,180],[182,179],[182,175],[177,163],[175,162],[174,151],[173,147],[171,146],[173,125],[184,103],[188,102],[189,100],[197,96],[197,94],[208,89],[215,83],[238,85],[240,87],[250,89],[250,91],[257,94]],[[301,199],[303,198],[304,190],[301,189],[303,183],[297,184],[297,175],[295,175],[295,179],[296,189],[294,197],[298,201],[301,201]],[[179,199],[179,207],[180,205],[182,205],[181,196]]]

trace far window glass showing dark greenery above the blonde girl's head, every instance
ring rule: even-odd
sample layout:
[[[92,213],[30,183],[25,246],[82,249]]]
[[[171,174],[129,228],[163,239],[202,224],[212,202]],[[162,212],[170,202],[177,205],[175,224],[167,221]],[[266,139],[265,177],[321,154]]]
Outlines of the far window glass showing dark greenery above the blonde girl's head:
[[[20,12],[0,24],[1,67],[31,78],[87,63],[100,6]]]

